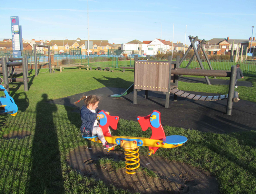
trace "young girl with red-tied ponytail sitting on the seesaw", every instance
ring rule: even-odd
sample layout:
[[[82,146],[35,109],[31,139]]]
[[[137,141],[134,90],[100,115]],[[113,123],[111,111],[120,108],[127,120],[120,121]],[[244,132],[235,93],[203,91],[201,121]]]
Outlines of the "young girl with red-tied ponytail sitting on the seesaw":
[[[82,126],[80,128],[81,133],[84,137],[91,137],[94,135],[98,135],[98,138],[101,140],[104,149],[108,149],[116,146],[115,144],[110,144],[105,140],[102,129],[99,127],[97,117],[103,118],[102,114],[98,114],[101,110],[99,110],[98,104],[100,98],[95,95],[83,96],[79,101],[84,100],[85,105],[82,106],[80,111],[80,116],[82,119]],[[74,104],[77,104],[76,101]],[[105,111],[106,112],[106,111]],[[108,112],[106,112],[108,114]],[[109,133],[110,129],[108,128]]]

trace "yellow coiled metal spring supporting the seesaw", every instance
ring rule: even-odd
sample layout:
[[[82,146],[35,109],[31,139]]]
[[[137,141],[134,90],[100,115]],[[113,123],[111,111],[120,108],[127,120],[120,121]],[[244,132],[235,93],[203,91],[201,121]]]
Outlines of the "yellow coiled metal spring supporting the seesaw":
[[[140,167],[140,154],[139,154],[139,148],[135,148],[135,149],[124,149],[124,155],[126,155],[124,157],[124,159],[126,160],[125,161],[125,168],[126,170],[135,170],[137,168]],[[133,168],[128,168],[128,166],[132,166],[132,165],[135,165],[135,164],[138,164],[137,166],[133,167]],[[128,172],[128,171],[125,171],[127,174],[135,174],[136,172]]]

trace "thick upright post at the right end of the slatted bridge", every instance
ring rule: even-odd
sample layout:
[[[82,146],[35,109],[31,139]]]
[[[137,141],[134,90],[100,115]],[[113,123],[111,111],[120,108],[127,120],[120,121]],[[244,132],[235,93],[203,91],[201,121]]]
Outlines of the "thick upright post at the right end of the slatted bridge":
[[[236,82],[236,66],[231,66],[231,75],[230,75],[230,84],[229,84],[229,94],[228,94],[228,103],[226,114],[231,115],[232,106],[233,106],[233,97],[235,91],[235,82]]]

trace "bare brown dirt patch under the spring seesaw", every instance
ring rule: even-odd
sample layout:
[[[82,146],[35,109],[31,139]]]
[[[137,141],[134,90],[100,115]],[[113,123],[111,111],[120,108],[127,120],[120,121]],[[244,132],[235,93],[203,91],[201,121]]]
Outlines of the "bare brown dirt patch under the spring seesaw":
[[[110,165],[98,167],[100,158],[112,158],[114,161],[125,161],[121,151],[106,152],[103,147],[79,146],[66,156],[72,168],[87,177],[102,180],[105,184],[141,193],[203,193],[217,194],[218,182],[208,172],[202,172],[185,163],[170,162],[161,157],[140,156],[140,168],[154,171],[158,178],[138,171],[129,175],[125,169],[114,170]]]

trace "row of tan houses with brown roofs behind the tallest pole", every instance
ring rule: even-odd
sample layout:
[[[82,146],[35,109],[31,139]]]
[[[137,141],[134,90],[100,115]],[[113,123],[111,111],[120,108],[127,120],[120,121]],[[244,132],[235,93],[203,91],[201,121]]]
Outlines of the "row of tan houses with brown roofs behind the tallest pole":
[[[87,55],[87,40],[51,40],[47,45],[50,46],[51,54],[65,55]],[[89,53],[96,55],[104,55],[111,49],[108,40],[89,40]],[[44,49],[44,54],[48,55],[47,48]]]

